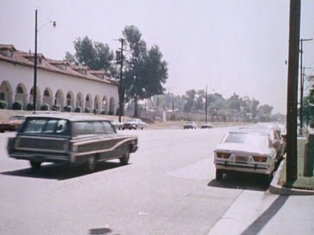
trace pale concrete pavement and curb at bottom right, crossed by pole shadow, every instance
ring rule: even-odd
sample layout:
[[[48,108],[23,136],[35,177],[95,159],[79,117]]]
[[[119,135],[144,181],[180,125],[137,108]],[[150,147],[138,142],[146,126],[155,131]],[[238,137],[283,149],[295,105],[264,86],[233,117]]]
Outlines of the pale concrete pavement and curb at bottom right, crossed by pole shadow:
[[[243,190],[208,235],[313,235],[314,191],[279,186],[282,167],[269,191]]]

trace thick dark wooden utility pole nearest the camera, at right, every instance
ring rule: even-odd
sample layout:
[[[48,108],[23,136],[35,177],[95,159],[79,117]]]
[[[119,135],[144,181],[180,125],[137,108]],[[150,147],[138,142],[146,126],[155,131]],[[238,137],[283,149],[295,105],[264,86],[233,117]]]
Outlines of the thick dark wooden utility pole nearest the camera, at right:
[[[287,95],[287,181],[296,180],[298,177],[297,118],[300,18],[301,0],[290,0]]]

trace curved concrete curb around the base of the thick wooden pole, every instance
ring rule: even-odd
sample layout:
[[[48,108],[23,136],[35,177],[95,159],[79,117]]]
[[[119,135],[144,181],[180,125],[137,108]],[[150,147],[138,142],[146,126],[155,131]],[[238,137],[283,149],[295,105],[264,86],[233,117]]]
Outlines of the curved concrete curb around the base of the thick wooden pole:
[[[274,178],[269,185],[269,191],[273,194],[282,194],[282,195],[303,195],[303,196],[314,195],[313,190],[286,188],[286,187],[282,187],[282,186],[278,185],[279,177],[280,177],[280,171],[283,168],[284,161],[286,161],[286,159],[284,159],[280,163],[280,165],[279,165],[279,167],[278,167],[278,169],[274,175]]]

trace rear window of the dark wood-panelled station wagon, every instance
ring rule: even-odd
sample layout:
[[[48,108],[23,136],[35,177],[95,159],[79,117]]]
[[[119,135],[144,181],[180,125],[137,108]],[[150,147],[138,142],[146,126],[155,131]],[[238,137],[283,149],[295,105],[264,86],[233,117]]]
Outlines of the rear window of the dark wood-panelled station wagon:
[[[69,135],[69,125],[65,119],[26,119],[22,133]]]

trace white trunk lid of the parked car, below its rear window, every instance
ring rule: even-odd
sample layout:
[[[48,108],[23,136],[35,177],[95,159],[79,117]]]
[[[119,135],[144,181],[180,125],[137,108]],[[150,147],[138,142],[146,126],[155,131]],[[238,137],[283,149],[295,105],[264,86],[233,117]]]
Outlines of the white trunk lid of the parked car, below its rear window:
[[[251,144],[244,143],[219,143],[215,151],[228,151],[228,152],[244,152],[252,154],[269,155],[271,154],[271,149],[263,146],[255,146]]]

